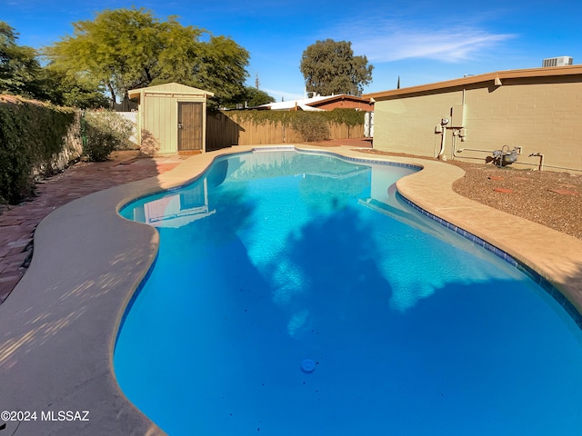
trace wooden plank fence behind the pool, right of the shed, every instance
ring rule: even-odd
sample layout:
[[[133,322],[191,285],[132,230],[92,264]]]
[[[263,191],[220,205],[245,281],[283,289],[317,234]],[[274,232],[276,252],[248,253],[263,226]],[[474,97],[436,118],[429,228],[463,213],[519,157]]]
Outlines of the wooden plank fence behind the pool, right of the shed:
[[[363,138],[364,124],[328,123],[329,139]],[[281,121],[256,124],[252,119],[238,119],[228,113],[208,114],[206,118],[206,150],[232,145],[297,144],[301,134]]]

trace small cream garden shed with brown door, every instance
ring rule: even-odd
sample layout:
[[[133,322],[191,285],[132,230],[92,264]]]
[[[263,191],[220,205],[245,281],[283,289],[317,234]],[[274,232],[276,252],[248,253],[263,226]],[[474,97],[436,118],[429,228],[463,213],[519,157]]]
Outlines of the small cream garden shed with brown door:
[[[184,84],[133,89],[139,104],[139,144],[157,154],[206,151],[206,100],[214,94]]]

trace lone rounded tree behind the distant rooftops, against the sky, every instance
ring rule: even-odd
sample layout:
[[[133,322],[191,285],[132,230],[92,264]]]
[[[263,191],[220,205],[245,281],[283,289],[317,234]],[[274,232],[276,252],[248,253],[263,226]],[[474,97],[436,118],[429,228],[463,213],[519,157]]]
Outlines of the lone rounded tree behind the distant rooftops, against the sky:
[[[299,69],[307,92],[361,95],[364,85],[372,82],[374,66],[367,64],[366,56],[354,55],[352,43],[326,39],[306,48]]]

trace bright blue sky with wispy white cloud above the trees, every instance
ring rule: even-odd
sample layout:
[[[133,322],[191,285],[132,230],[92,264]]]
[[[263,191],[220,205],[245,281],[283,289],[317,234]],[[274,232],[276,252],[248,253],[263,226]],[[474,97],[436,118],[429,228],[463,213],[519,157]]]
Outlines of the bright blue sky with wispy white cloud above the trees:
[[[573,0],[0,0],[0,21],[20,34],[19,45],[40,48],[72,35],[76,21],[132,5],[232,37],[250,53],[247,84],[258,75],[260,89],[276,101],[303,97],[301,54],[326,38],[350,41],[354,54],[374,65],[365,93],[396,88],[398,76],[406,87],[536,68],[547,57],[582,63],[582,3]]]

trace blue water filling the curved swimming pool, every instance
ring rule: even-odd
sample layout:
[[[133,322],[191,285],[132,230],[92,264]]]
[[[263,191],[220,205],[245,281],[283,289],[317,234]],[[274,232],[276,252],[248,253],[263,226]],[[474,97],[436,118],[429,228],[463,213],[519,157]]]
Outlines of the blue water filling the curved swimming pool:
[[[582,334],[396,195],[414,169],[237,154],[128,204],[158,229],[115,374],[170,435],[581,434]]]

